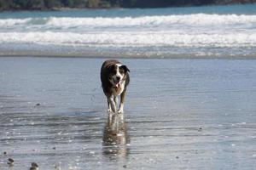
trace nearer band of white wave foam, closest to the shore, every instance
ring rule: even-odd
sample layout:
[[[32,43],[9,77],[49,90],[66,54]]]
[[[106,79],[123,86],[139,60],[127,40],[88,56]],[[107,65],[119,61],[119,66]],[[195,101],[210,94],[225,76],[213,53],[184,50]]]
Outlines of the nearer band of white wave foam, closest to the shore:
[[[42,43],[56,45],[119,46],[119,47],[256,47],[252,34],[172,34],[170,32],[104,32],[97,34],[70,32],[0,33],[0,42]]]

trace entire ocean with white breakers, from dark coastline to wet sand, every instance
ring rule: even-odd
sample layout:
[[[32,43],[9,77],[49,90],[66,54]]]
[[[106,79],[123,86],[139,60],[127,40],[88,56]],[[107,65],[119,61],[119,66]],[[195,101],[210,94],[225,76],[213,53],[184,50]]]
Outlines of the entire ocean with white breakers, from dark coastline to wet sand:
[[[0,55],[254,58],[256,4],[0,13]]]

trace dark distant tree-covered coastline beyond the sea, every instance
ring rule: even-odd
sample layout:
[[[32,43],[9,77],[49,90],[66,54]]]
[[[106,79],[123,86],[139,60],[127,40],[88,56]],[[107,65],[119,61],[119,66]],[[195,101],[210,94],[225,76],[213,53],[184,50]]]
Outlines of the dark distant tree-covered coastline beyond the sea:
[[[256,3],[256,0],[0,0],[1,11],[93,8],[166,8]]]

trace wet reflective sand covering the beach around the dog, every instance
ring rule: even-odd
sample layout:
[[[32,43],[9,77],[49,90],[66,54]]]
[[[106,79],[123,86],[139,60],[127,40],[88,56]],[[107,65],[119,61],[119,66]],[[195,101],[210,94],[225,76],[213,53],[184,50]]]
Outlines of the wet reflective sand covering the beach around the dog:
[[[103,60],[0,58],[1,170],[255,169],[256,60],[121,59],[123,116]]]

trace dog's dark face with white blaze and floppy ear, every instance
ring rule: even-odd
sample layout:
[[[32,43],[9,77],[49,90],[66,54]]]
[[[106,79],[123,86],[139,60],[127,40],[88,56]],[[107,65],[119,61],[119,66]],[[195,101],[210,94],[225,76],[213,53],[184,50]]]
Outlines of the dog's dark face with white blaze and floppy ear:
[[[109,81],[115,86],[119,87],[119,83],[125,79],[125,76],[129,69],[126,65],[112,65],[109,67]]]

